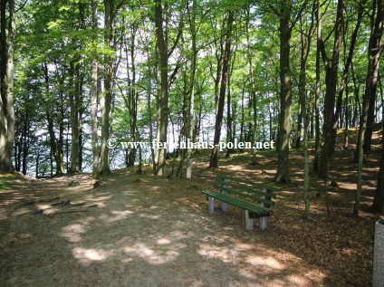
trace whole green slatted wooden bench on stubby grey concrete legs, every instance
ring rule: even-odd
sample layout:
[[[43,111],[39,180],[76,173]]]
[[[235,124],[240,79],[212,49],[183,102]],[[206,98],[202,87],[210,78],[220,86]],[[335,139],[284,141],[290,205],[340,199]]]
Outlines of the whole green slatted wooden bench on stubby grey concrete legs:
[[[270,207],[274,206],[272,192],[274,187],[256,184],[250,180],[238,177],[217,175],[215,187],[218,191],[202,191],[208,197],[208,210],[215,213],[215,203],[220,202],[221,210],[226,212],[227,205],[240,207],[245,210],[246,230],[254,229],[254,218],[260,218],[260,229],[268,226]],[[228,195],[231,194],[231,195]]]

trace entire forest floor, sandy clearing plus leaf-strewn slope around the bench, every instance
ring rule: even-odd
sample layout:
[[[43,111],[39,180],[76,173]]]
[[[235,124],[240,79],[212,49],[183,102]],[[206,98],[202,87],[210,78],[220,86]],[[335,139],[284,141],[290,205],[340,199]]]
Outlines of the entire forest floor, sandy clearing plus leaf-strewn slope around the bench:
[[[351,130],[352,134],[353,131]],[[338,139],[339,140],[339,139]],[[340,137],[341,140],[341,137]],[[365,158],[359,217],[353,149],[341,142],[331,163],[338,187],[311,177],[311,221],[302,218],[302,149],[291,152],[293,183],[276,185],[277,153],[197,155],[194,177],[162,179],[115,170],[93,189],[90,175],[35,179],[0,175],[0,286],[368,286],[374,223],[368,212],[379,168],[379,139]],[[310,150],[311,160],[313,150]],[[171,166],[171,161],[169,166]],[[245,230],[244,211],[209,215],[217,173],[277,187],[266,231]],[[70,187],[76,180],[79,186]],[[381,215],[382,217],[382,215]]]

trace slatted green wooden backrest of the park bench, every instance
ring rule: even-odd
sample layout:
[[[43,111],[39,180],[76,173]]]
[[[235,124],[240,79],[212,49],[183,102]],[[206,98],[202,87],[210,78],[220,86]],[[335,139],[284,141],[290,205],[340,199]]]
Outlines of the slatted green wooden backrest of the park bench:
[[[274,201],[272,201],[272,198],[276,197],[272,193],[275,190],[274,187],[267,187],[250,180],[226,175],[217,175],[215,187],[222,192],[252,199],[263,204],[266,208],[274,206]]]

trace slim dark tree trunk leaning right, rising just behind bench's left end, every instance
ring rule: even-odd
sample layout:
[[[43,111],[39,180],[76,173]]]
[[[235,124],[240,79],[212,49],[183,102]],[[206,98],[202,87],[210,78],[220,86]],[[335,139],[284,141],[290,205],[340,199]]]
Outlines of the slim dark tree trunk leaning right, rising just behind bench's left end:
[[[228,20],[226,24],[226,48],[224,52],[223,60],[223,72],[221,77],[220,84],[220,96],[217,104],[216,112],[216,122],[215,122],[215,138],[214,145],[212,149],[211,158],[209,162],[209,167],[218,167],[217,158],[218,158],[218,143],[220,141],[221,134],[221,125],[223,123],[223,112],[224,112],[224,103],[226,101],[226,79],[229,72],[229,56],[231,53],[231,33],[232,33],[232,24],[234,23],[234,12],[231,10],[228,13]]]

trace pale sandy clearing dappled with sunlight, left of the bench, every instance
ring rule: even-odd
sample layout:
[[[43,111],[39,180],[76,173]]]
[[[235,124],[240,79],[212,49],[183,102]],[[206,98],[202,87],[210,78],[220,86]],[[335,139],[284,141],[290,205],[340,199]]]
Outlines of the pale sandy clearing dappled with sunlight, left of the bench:
[[[231,208],[209,215],[199,178],[186,186],[122,170],[91,183],[78,175],[0,190],[1,286],[327,285],[322,270],[268,243],[273,226],[247,232]],[[64,200],[84,205],[51,206]]]

